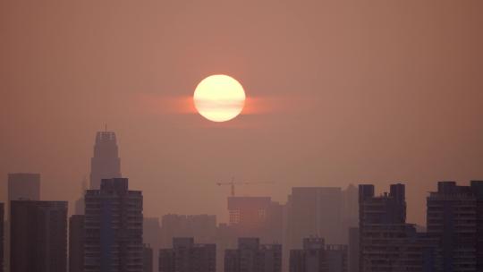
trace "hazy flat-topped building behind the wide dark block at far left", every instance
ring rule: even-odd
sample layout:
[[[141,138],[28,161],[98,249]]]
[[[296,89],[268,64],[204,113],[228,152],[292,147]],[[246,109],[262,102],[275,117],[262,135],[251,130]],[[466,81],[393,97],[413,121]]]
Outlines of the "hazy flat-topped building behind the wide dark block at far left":
[[[10,268],[10,201],[12,200],[40,200],[40,174],[13,173],[8,174],[8,201],[5,207],[5,251],[4,267]],[[8,245],[8,246],[7,246]]]

